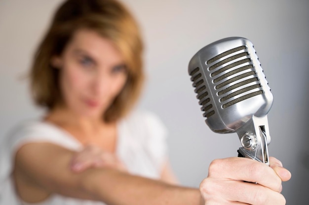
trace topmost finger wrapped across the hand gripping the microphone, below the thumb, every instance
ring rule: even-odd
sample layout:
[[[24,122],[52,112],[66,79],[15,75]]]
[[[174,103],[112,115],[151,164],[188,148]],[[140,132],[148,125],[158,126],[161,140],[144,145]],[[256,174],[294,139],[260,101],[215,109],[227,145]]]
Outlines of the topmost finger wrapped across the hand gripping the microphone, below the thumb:
[[[280,192],[281,178],[264,163],[243,158],[231,157],[214,160],[209,166],[209,176],[232,180],[257,182]]]

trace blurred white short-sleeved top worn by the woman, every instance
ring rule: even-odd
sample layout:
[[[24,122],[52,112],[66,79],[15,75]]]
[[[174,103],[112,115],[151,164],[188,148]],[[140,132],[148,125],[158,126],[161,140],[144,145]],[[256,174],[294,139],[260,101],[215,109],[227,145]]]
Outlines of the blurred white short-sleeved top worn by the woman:
[[[151,113],[135,112],[117,123],[116,155],[129,173],[158,179],[167,158],[166,129]],[[71,150],[82,145],[65,130],[43,121],[26,121],[0,144],[0,205],[105,205],[54,194],[46,201],[27,204],[14,192],[11,177],[16,151],[32,142],[49,142]]]

